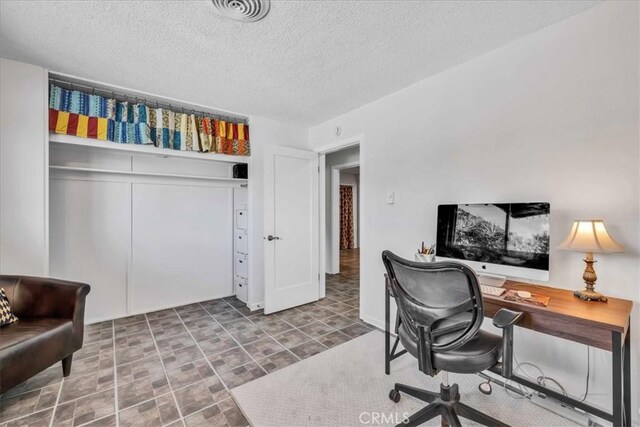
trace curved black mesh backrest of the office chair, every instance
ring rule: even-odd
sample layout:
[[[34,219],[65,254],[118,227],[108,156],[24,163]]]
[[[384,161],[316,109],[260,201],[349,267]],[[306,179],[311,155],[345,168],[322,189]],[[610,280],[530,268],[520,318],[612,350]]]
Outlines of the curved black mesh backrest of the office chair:
[[[434,338],[431,351],[462,346],[483,320],[482,295],[473,270],[457,262],[413,262],[382,253],[400,319],[417,340],[418,327]]]

